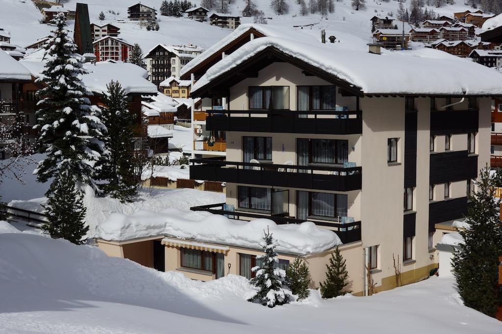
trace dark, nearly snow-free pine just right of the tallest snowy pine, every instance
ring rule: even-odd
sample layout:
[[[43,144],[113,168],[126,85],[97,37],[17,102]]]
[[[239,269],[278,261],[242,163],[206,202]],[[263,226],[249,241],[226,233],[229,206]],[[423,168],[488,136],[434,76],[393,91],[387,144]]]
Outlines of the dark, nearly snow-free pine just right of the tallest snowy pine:
[[[136,195],[137,182],[134,178],[133,156],[133,118],[127,109],[125,91],[116,81],[106,85],[103,124],[108,129],[103,142],[106,151],[102,155],[98,178],[107,181],[100,186],[104,194],[120,199],[120,202],[130,202]]]

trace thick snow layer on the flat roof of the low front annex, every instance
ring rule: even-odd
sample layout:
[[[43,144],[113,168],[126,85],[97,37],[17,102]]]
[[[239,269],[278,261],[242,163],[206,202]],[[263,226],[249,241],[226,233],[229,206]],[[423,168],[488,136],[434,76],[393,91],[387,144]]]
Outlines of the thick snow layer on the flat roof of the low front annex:
[[[170,208],[160,213],[140,211],[133,215],[112,213],[96,228],[96,236],[104,240],[123,241],[166,235],[194,241],[221,243],[262,249],[264,230],[269,228],[277,239],[279,252],[319,253],[340,245],[338,236],[313,222],[277,225],[269,219],[232,220],[225,216],[187,212]]]

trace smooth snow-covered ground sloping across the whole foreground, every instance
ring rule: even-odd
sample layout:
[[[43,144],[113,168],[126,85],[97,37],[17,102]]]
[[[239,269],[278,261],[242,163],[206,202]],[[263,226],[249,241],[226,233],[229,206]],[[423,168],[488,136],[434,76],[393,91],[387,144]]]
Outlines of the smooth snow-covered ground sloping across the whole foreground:
[[[0,234],[0,263],[0,332],[502,332],[502,322],[463,306],[451,278],[371,297],[312,291],[269,309],[245,301],[253,289],[240,276],[194,281],[26,232]]]

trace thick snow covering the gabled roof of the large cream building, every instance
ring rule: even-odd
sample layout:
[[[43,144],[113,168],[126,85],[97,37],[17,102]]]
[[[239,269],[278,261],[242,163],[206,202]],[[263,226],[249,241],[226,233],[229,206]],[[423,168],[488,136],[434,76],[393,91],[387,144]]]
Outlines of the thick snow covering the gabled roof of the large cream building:
[[[365,94],[502,95],[498,74],[434,49],[374,55],[337,44],[272,37],[250,41],[223,58],[195,83],[192,94],[267,48],[322,69]]]

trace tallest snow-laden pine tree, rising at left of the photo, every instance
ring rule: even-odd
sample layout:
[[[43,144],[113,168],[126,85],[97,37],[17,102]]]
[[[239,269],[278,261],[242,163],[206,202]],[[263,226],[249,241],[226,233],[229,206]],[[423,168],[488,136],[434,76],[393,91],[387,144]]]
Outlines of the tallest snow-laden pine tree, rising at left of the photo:
[[[100,158],[102,137],[106,127],[101,123],[101,111],[91,106],[86,95],[91,92],[83,86],[82,56],[76,54],[77,47],[68,38],[66,20],[60,13],[55,19],[54,38],[48,42],[45,51],[45,69],[41,79],[47,87],[37,94],[44,97],[39,102],[37,125],[40,129],[40,153],[46,158],[39,162],[34,171],[38,182],[47,182],[61,171],[65,161],[67,169],[75,181],[94,185],[93,165]],[[48,193],[53,189],[49,187]]]

